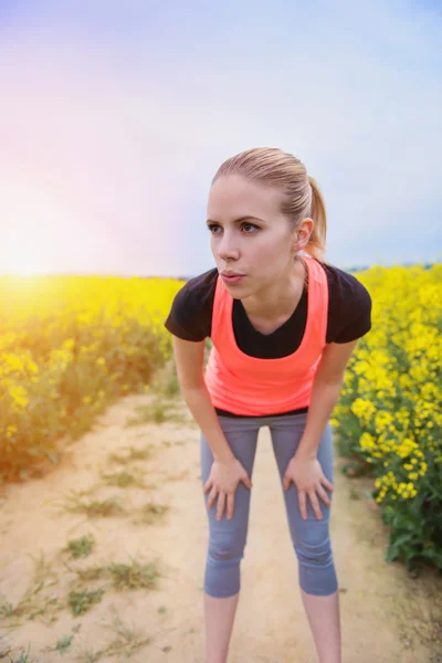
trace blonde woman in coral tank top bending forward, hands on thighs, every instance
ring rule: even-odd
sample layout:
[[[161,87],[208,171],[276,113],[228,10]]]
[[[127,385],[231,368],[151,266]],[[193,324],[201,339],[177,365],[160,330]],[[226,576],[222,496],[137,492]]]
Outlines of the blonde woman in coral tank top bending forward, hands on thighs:
[[[293,155],[255,148],[222,164],[207,225],[217,267],[186,283],[165,323],[201,431],[206,660],[227,661],[257,433],[267,425],[319,662],[338,663],[329,417],[357,339],[371,327],[371,299],[355,276],[324,260],[324,200]]]

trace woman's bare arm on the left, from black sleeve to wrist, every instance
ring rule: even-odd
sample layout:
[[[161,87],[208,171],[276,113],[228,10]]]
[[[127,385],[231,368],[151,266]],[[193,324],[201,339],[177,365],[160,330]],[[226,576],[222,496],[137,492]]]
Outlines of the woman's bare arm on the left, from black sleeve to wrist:
[[[175,361],[181,393],[196,422],[209,442],[215,461],[230,461],[234,454],[218,421],[203,375],[206,341],[172,336]]]

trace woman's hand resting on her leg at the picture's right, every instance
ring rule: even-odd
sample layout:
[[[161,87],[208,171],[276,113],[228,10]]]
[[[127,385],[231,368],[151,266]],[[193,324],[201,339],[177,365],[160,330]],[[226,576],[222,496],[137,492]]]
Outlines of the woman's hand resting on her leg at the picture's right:
[[[290,488],[290,484],[292,481],[297,488],[301,516],[304,518],[304,520],[307,519],[306,502],[308,495],[316,518],[318,520],[322,520],[323,514],[320,513],[319,502],[315,491],[317,491],[324,504],[330,506],[330,499],[322,484],[324,484],[324,486],[332,492],[334,491],[334,487],[333,484],[328,481],[328,478],[324,475],[323,469],[317,457],[303,457],[296,456],[295,454],[290,461],[285,471],[283,480],[284,491],[287,491]]]

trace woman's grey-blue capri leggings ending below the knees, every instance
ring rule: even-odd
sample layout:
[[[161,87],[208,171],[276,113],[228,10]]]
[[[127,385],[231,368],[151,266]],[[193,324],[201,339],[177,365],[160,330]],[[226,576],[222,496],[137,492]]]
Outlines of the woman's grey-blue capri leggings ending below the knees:
[[[304,591],[316,596],[327,596],[337,590],[337,578],[329,538],[329,511],[318,496],[323,519],[318,520],[307,495],[307,519],[301,516],[297,488],[292,482],[288,491],[282,488],[285,470],[295,454],[302,438],[307,413],[301,412],[278,417],[225,417],[218,414],[233,454],[252,478],[260,427],[267,425],[281,477],[290,534],[298,560],[299,586]],[[317,457],[325,476],[333,483],[333,438],[332,425],[327,422],[319,442]],[[201,481],[204,486],[213,463],[213,454],[207,439],[200,431]],[[254,488],[252,488],[253,491]],[[330,504],[333,493],[324,486]],[[204,591],[212,597],[230,597],[240,591],[240,562],[244,557],[248,537],[249,509],[252,491],[242,482],[235,491],[234,513],[231,520],[225,517],[217,520],[217,499],[208,507],[209,493],[204,494],[209,519],[209,546],[207,554]]]

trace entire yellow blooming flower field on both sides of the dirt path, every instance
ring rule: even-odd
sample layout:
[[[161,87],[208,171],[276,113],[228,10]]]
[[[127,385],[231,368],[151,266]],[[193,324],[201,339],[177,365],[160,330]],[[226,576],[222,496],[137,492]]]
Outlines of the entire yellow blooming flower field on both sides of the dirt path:
[[[347,470],[373,477],[391,525],[388,559],[442,570],[442,265],[373,266],[372,329],[334,412]],[[30,475],[122,394],[148,389],[171,356],[164,320],[182,281],[2,277],[0,481]]]

